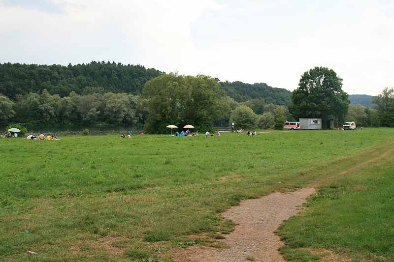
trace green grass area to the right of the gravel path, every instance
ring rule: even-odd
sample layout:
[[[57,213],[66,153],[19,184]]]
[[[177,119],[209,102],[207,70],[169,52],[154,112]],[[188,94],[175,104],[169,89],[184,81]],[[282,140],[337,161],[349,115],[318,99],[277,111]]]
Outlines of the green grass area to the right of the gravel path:
[[[279,230],[289,261],[311,261],[305,248],[353,261],[394,261],[394,153],[332,179],[308,209]]]

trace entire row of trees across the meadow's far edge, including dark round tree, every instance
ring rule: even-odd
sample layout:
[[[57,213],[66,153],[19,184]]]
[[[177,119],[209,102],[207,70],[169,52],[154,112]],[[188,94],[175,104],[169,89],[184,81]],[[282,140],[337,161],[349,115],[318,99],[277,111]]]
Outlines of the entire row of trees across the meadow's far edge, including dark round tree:
[[[109,65],[123,66],[105,63],[104,67]],[[136,93],[86,86],[78,89],[79,93],[71,91],[67,95],[47,89],[16,94],[14,98],[0,95],[0,124],[10,121],[39,125],[138,124],[149,133],[164,133],[168,124],[193,124],[200,131],[228,126],[230,122],[235,123],[235,128],[282,128],[284,121],[299,117],[323,118],[323,123],[329,119],[339,123],[354,120],[362,126],[393,126],[394,123],[393,88],[386,88],[374,98],[376,109],[349,105],[342,79],[325,67],[313,68],[301,76],[290,102],[286,102],[288,107],[250,94],[247,98],[251,99],[237,101],[223,88],[242,86],[240,83],[223,84],[205,75],[159,72]]]

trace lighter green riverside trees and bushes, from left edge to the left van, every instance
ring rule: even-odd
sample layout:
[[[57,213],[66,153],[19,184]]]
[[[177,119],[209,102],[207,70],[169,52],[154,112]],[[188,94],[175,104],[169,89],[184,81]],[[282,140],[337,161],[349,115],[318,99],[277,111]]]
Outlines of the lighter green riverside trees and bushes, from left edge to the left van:
[[[249,116],[239,117],[245,109],[253,112],[253,123]],[[235,101],[209,76],[176,73],[149,80],[137,95],[102,92],[101,88],[85,88],[84,94],[71,91],[63,97],[46,89],[19,94],[12,100],[0,95],[2,125],[10,121],[32,125],[107,123],[141,125],[149,133],[164,133],[168,124],[193,124],[198,130],[212,130],[214,125],[228,126],[230,121],[235,121],[239,128],[268,128],[278,112],[290,117],[286,107],[265,103],[263,99]]]

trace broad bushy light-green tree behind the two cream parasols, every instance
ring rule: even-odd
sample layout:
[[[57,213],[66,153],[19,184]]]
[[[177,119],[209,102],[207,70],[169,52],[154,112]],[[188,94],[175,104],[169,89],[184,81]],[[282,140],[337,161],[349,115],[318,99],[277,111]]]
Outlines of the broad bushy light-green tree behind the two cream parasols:
[[[197,130],[212,129],[213,120],[226,115],[218,112],[221,92],[217,81],[204,75],[183,76],[176,73],[158,76],[144,86],[149,116],[145,129],[164,133],[166,125],[193,124]]]

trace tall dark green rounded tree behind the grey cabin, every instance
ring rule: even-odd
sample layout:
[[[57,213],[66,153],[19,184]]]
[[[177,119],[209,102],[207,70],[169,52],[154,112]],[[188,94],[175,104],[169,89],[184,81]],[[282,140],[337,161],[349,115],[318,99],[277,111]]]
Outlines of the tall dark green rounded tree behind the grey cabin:
[[[334,70],[315,67],[301,76],[289,110],[296,118],[322,118],[323,127],[327,127],[331,118],[343,121],[349,103],[348,94],[342,90],[342,79]]]

